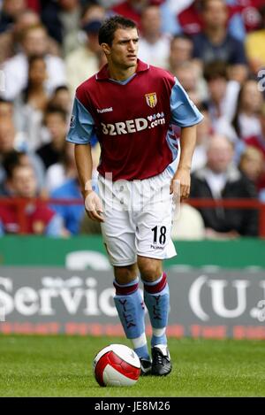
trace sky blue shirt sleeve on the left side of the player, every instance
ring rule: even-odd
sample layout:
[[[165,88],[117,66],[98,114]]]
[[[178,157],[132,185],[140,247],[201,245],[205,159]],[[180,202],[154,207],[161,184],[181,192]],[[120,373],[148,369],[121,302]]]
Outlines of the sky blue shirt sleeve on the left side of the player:
[[[66,141],[74,144],[87,144],[90,142],[94,127],[95,121],[91,114],[87,111],[87,108],[80,103],[79,99],[75,97]]]

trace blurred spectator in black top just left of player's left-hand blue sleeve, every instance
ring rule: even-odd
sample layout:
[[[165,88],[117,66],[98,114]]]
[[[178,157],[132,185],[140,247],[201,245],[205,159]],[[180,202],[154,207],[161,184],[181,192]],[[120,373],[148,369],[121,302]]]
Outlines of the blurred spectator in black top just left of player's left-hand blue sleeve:
[[[64,156],[65,136],[67,132],[67,114],[65,111],[51,108],[45,112],[44,125],[50,135],[50,142],[43,144],[36,153],[45,165],[46,169],[50,165],[58,163]]]

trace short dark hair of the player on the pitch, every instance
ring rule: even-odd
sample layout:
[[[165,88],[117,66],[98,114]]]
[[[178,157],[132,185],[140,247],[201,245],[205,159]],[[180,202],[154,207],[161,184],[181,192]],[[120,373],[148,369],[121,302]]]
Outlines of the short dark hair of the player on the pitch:
[[[98,42],[99,44],[107,43],[111,46],[114,35],[117,29],[134,29],[137,28],[136,23],[131,19],[125,19],[123,16],[113,16],[110,19],[106,19],[102,23],[102,27],[99,30]]]

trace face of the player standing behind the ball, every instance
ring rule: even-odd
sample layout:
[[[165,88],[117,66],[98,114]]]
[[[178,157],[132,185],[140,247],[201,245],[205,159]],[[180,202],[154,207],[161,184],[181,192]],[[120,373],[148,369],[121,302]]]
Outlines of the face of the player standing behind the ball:
[[[136,28],[117,29],[110,46],[110,60],[123,69],[137,64],[139,36]]]

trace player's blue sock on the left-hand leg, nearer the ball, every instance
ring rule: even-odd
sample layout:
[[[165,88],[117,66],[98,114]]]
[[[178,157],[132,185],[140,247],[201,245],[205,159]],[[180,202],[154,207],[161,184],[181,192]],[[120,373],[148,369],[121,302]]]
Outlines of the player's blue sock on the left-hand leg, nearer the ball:
[[[125,335],[133,342],[133,349],[137,355],[149,359],[145,334],[145,306],[140,294],[139,280],[137,278],[129,284],[122,285],[114,281],[114,287],[114,303]]]

